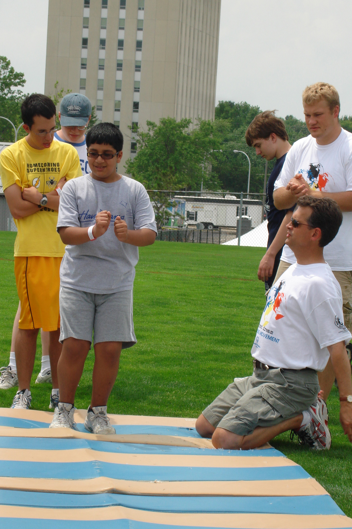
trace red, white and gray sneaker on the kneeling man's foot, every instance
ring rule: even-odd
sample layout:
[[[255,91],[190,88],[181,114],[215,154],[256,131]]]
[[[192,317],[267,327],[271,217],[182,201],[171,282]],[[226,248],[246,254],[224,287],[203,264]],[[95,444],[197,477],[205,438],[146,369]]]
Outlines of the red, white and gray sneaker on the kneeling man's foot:
[[[328,407],[325,400],[318,397],[316,403],[308,408],[312,418],[311,421],[299,428],[292,430],[290,438],[298,435],[300,444],[307,444],[313,450],[329,450],[331,446],[331,434],[328,428]]]

